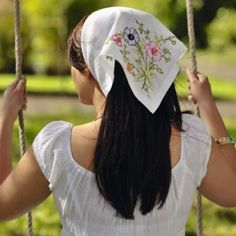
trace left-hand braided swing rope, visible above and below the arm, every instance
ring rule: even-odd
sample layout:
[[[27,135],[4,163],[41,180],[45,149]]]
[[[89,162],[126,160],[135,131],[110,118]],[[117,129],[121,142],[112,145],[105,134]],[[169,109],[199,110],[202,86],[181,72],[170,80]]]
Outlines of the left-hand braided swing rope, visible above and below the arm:
[[[15,5],[15,58],[16,58],[16,80],[22,78],[22,54],[21,54],[21,34],[20,34],[20,0],[14,1]],[[19,140],[20,155],[23,156],[26,151],[24,117],[23,112],[18,113],[19,121]],[[27,213],[28,235],[33,236],[32,216],[31,212]]]

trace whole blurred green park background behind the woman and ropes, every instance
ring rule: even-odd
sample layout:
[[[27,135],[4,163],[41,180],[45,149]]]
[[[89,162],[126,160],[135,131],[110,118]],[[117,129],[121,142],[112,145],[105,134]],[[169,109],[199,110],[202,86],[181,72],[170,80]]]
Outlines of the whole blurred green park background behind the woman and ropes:
[[[194,0],[199,70],[209,76],[217,106],[231,136],[236,137],[236,0]],[[155,15],[188,45],[186,6],[183,0],[24,0],[21,3],[23,73],[28,80],[29,105],[25,112],[27,143],[52,120],[74,124],[90,121],[92,107],[79,103],[70,79],[67,38],[82,16],[102,7],[128,6]],[[184,70],[187,53],[180,62],[176,87],[183,109],[186,100]],[[0,4],[0,92],[15,79],[14,7],[12,0]],[[0,98],[1,103],[1,98]],[[17,124],[14,162],[19,159]],[[220,174],[220,173],[219,173]],[[196,235],[196,203],[186,225],[186,235]],[[60,221],[53,199],[33,210],[35,235],[60,234]],[[236,209],[224,209],[203,200],[204,235],[236,236]],[[26,235],[26,220],[0,223],[0,235]]]

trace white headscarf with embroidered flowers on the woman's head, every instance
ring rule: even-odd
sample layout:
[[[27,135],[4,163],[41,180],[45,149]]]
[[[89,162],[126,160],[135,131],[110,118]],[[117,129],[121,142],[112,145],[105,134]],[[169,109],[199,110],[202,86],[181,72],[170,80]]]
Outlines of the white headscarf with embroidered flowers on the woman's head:
[[[77,35],[80,37],[80,34]],[[126,7],[98,10],[81,32],[85,62],[105,96],[118,61],[136,98],[154,113],[179,71],[186,47],[154,16]]]

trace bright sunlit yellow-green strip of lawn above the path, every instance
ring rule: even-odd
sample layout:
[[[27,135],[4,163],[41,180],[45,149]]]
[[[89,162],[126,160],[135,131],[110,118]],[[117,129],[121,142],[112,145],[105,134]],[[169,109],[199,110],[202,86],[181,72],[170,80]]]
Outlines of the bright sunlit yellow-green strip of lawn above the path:
[[[7,87],[14,80],[14,75],[0,74],[0,90]],[[236,81],[210,77],[212,92],[216,99],[236,100]],[[187,79],[180,74],[176,79],[176,88],[180,97],[187,96]],[[69,93],[75,94],[70,76],[30,75],[27,77],[29,93]]]

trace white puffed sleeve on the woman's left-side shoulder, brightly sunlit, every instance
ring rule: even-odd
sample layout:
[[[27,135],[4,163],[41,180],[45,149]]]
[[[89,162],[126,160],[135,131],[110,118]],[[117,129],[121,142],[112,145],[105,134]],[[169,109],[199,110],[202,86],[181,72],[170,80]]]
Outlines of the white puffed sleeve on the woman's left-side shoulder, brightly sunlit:
[[[33,142],[33,151],[38,165],[53,191],[65,167],[62,151],[70,140],[69,123],[55,121],[46,125]]]

